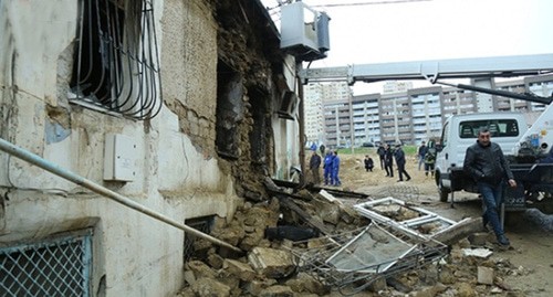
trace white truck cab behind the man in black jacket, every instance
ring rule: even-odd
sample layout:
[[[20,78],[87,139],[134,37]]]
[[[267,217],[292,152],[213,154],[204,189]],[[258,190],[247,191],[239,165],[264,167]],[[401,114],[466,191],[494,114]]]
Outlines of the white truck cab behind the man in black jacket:
[[[528,130],[521,113],[480,113],[453,115],[442,127],[436,156],[436,184],[440,201],[446,202],[452,191],[465,190],[476,193],[476,184],[462,170],[467,148],[477,140],[478,131],[488,128],[491,139],[503,153],[509,155]]]

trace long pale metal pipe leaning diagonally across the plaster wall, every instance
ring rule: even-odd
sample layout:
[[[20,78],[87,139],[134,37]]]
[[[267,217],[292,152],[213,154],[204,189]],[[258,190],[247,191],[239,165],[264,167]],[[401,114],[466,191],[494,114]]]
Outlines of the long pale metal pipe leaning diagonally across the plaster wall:
[[[135,202],[134,200],[132,200],[129,198],[126,198],[122,194],[118,194],[118,193],[116,193],[116,192],[114,192],[105,187],[102,187],[102,185],[100,185],[100,184],[97,184],[97,183],[95,183],[86,178],[83,178],[83,177],[77,176],[77,174],[75,174],[66,169],[63,169],[60,166],[54,165],[54,163],[41,158],[40,156],[36,156],[28,150],[24,150],[18,146],[2,139],[2,138],[0,138],[0,150],[3,150],[3,151],[6,151],[12,156],[15,156],[24,161],[28,161],[34,166],[38,166],[38,167],[40,167],[40,168],[42,168],[51,173],[54,173],[54,174],[62,177],[69,181],[72,181],[79,185],[82,185],[82,187],[84,187],[84,188],[86,188],[95,193],[107,197],[107,198],[114,200],[115,202],[118,202],[118,203],[121,203],[125,206],[128,206],[135,211],[142,212],[142,213],[149,215],[158,221],[161,221],[164,223],[167,223],[169,225],[178,227],[178,229],[180,229],[185,232],[188,232],[195,236],[201,237],[201,238],[207,240],[209,242],[212,242],[217,245],[228,247],[228,248],[230,248],[234,252],[238,252],[238,253],[243,252],[242,250],[240,250],[236,246],[232,246],[229,243],[226,243],[226,242],[218,240],[209,234],[206,234],[206,233],[200,232],[196,229],[187,226],[180,222],[177,222],[177,221],[164,215],[163,213],[156,212],[154,210],[150,210],[150,209],[142,205],[140,203]]]

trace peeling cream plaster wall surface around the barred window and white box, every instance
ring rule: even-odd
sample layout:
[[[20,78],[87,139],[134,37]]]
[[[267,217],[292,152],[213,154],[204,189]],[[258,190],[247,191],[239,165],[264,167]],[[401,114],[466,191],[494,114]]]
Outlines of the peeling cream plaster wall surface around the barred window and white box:
[[[212,7],[154,3],[168,108],[153,120],[135,121],[69,104],[76,1],[1,1],[0,136],[175,220],[231,216],[239,203],[231,176],[237,165],[220,160],[213,145],[218,24]],[[169,13],[174,10],[182,15]],[[185,25],[171,18],[185,18]],[[182,59],[169,59],[179,53]],[[108,132],[137,144],[132,182],[103,181]],[[0,194],[1,243],[92,227],[94,290],[101,279],[106,296],[164,296],[180,287],[181,231],[4,152]]]

